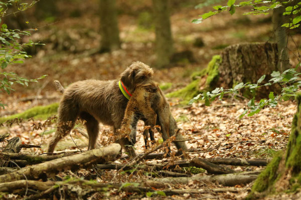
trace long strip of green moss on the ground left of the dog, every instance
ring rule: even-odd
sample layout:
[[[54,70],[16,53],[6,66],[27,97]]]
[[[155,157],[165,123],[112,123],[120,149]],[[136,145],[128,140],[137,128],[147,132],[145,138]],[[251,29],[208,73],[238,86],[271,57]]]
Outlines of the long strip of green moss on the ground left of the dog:
[[[59,107],[59,103],[52,103],[50,105],[45,105],[45,106],[35,106],[22,113],[13,114],[7,117],[1,117],[0,123],[5,122],[7,120],[12,120],[14,118],[28,119],[34,117],[37,119],[45,119],[55,114],[58,110],[58,107]]]

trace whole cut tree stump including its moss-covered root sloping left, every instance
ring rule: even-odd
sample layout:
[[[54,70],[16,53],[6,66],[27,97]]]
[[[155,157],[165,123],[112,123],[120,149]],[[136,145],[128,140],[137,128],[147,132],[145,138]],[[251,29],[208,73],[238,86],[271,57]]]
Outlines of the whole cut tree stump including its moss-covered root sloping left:
[[[256,83],[265,74],[266,83],[273,71],[281,71],[277,66],[278,49],[276,43],[240,43],[226,47],[221,55],[214,55],[206,69],[194,72],[192,82],[185,88],[167,94],[168,97],[182,97],[190,100],[197,94],[216,87],[233,88],[240,82]],[[205,79],[205,80],[204,80]],[[266,97],[269,91],[279,92],[280,87],[263,86],[256,89],[256,96]],[[242,94],[251,97],[249,90]]]

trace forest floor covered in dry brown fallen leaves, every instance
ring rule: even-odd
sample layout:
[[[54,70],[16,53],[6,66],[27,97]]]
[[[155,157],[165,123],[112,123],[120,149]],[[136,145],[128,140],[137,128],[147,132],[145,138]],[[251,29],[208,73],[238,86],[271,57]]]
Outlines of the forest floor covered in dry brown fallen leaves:
[[[72,10],[71,5],[71,10]],[[0,102],[7,104],[5,109],[0,108],[0,116],[7,116],[22,112],[35,105],[47,105],[57,102],[61,94],[55,91],[53,80],[58,79],[64,86],[82,79],[114,79],[118,78],[132,61],[140,60],[144,63],[155,63],[154,57],[154,29],[143,29],[137,26],[137,19],[130,14],[122,14],[119,17],[121,49],[112,53],[95,53],[93,49],[99,46],[100,36],[98,34],[98,18],[93,5],[85,9],[80,18],[63,15],[59,21],[45,25],[39,22],[33,26],[40,27],[32,33],[32,38],[41,40],[46,46],[40,47],[32,58],[23,64],[10,66],[7,69],[18,74],[35,78],[43,74],[48,76],[38,83],[31,83],[28,88],[16,87],[16,91],[10,95],[2,93]],[[89,7],[90,6],[90,7]],[[138,9],[138,8],[137,8]],[[208,11],[209,8],[207,8]],[[272,25],[270,16],[248,16],[242,15],[243,11],[237,10],[237,14],[221,13],[205,20],[201,24],[193,24],[191,20],[197,18],[202,10],[193,7],[182,7],[173,11],[171,17],[172,30],[175,40],[176,51],[191,50],[196,62],[178,62],[169,68],[155,69],[155,79],[160,83],[172,83],[171,88],[165,93],[176,90],[190,82],[192,72],[206,67],[211,57],[219,54],[224,46],[239,42],[265,42],[272,36]],[[80,19],[80,20],[79,20]],[[42,27],[44,26],[44,27]],[[201,37],[204,41],[203,47],[193,45],[196,38]],[[289,40],[288,46],[293,51],[290,53],[291,63],[297,63],[294,53],[300,48],[301,38],[292,35],[294,42]],[[299,44],[299,46],[295,46]],[[290,134],[290,125],[293,114],[296,111],[294,101],[280,102],[275,108],[265,107],[258,114],[239,119],[239,115],[246,107],[247,100],[226,96],[222,101],[216,100],[207,107],[203,102],[194,103],[192,106],[183,106],[181,99],[168,99],[171,104],[173,116],[177,120],[185,138],[188,138],[189,148],[200,148],[208,152],[198,154],[191,153],[190,156],[204,158],[232,157],[232,158],[267,158],[284,149]],[[9,132],[10,137],[19,136],[24,143],[41,145],[42,148],[23,149],[22,153],[40,154],[46,151],[47,143],[51,133],[55,131],[55,124],[34,130],[33,124],[43,123],[44,120],[22,122],[20,124],[4,124],[0,134]],[[100,124],[98,143],[107,145],[111,142],[113,132],[109,126]],[[138,122],[137,142],[135,148],[138,152],[145,152],[142,136],[143,123]],[[161,136],[155,132],[156,141],[160,142]],[[75,145],[76,143],[76,145]],[[72,133],[62,139],[57,146],[58,151],[86,150],[87,139],[80,133]],[[7,142],[0,142],[0,149]],[[173,147],[172,150],[175,150]],[[159,150],[158,152],[160,152]],[[165,158],[164,160],[167,160]],[[122,160],[119,162],[123,162]],[[158,160],[161,162],[161,160]],[[232,166],[237,171],[261,170],[264,167],[255,166]],[[90,177],[91,170],[80,170],[76,173],[78,177]],[[70,175],[62,172],[61,176]],[[75,174],[74,174],[75,175]],[[135,182],[149,179],[149,175],[143,173],[117,173],[116,170],[103,171],[96,176],[100,182],[114,181],[118,183]],[[250,184],[235,185],[242,188],[238,193],[234,192],[208,192],[204,194],[174,195],[176,199],[241,199],[250,190]],[[202,182],[190,182],[189,184],[176,184],[172,188],[219,188],[224,187],[215,183],[204,184]],[[284,196],[283,196],[284,195]],[[299,194],[279,194],[274,199],[294,198]],[[143,195],[142,195],[143,196]],[[15,199],[20,196],[10,194],[7,199]],[[95,194],[94,198],[131,198],[131,194],[124,191],[113,191]],[[136,198],[140,198],[141,195]],[[132,196],[134,198],[134,196]],[[147,197],[144,197],[146,199]],[[168,198],[162,196],[161,198]],[[271,199],[272,199],[271,198]],[[90,198],[92,199],[92,197]]]

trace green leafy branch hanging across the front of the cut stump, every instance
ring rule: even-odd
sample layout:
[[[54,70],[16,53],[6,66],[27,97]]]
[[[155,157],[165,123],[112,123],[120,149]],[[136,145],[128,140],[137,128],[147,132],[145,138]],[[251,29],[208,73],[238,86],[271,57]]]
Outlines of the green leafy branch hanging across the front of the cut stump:
[[[233,88],[224,89],[223,87],[217,87],[213,91],[203,92],[195,96],[189,101],[189,104],[192,104],[196,100],[205,100],[205,105],[210,106],[210,103],[214,101],[217,97],[221,100],[224,94],[233,93],[238,94],[241,89],[250,89],[253,94],[253,98],[249,100],[247,103],[248,108],[243,111],[243,113],[239,116],[242,118],[248,112],[248,116],[252,116],[258,113],[264,106],[269,105],[271,107],[275,107],[279,100],[288,100],[290,97],[296,95],[296,91],[299,91],[301,88],[301,80],[298,77],[301,73],[297,72],[296,69],[301,64],[298,64],[295,68],[290,68],[282,73],[279,71],[273,71],[267,83],[262,83],[265,79],[266,75],[262,75],[257,83],[239,83],[235,85]],[[262,86],[269,86],[272,84],[278,84],[281,86],[281,93],[274,95],[274,92],[270,92],[268,95],[268,99],[261,99],[258,103],[255,103],[255,89]]]

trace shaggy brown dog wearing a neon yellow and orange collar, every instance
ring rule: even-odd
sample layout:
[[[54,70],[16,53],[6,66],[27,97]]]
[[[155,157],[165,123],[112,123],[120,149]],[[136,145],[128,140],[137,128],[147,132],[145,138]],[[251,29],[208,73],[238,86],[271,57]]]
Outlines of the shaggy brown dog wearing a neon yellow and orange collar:
[[[136,61],[121,74],[122,86],[132,93],[139,85],[152,83],[153,69]],[[95,148],[98,123],[120,128],[128,99],[119,87],[119,80],[83,80],[65,89],[58,110],[58,128],[52,137],[48,152],[53,152],[58,141],[70,132],[77,117],[85,120],[89,135],[88,149]],[[121,145],[122,145],[121,141]],[[125,147],[126,148],[126,147]]]

